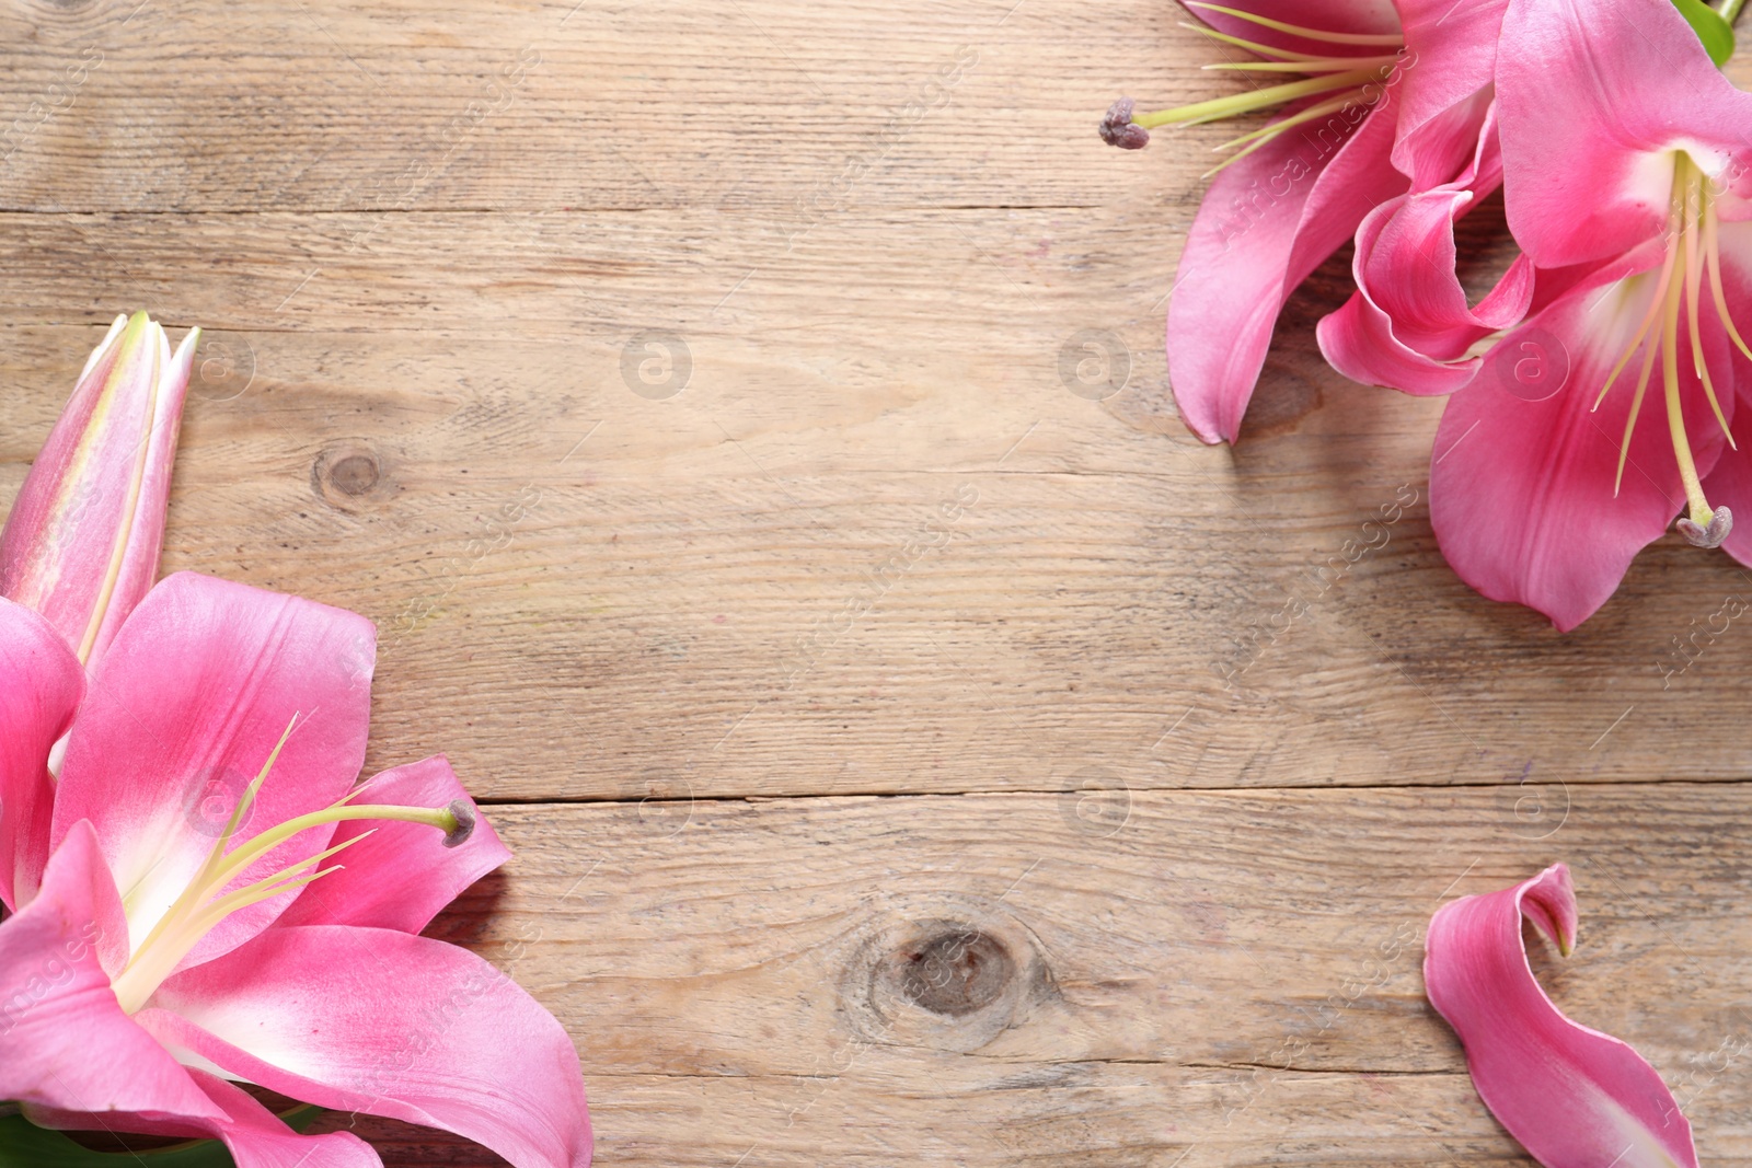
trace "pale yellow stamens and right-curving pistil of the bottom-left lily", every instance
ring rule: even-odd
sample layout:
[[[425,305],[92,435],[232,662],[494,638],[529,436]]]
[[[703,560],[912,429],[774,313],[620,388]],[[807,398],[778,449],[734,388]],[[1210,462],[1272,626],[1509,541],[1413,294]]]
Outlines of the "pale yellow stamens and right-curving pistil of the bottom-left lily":
[[[147,1003],[159,984],[163,984],[163,981],[175,972],[182,958],[186,958],[201,937],[212,932],[219,921],[240,909],[247,909],[252,904],[270,900],[284,891],[301,888],[310,881],[338,870],[343,865],[336,863],[326,869],[317,869],[317,865],[371,835],[371,832],[354,835],[352,839],[342,841],[340,844],[319,851],[314,856],[287,865],[265,879],[226,891],[226,886],[242,876],[252,863],[300,832],[308,832],[314,827],[328,823],[342,823],[345,820],[401,820],[405,823],[429,823],[438,828],[445,834],[443,842],[447,848],[461,844],[468,839],[470,832],[473,832],[475,809],[466,799],[457,799],[445,807],[350,804],[349,800],[357,795],[357,790],[354,790],[322,811],[312,811],[308,814],[286,820],[284,823],[245,839],[237,848],[231,848],[238,825],[249,814],[249,809],[256,800],[256,793],[268,779],[268,770],[273,769],[273,762],[280,756],[280,749],[286,746],[286,739],[291,737],[296,725],[298,718],[293,718],[293,723],[286,727],[286,734],[280,735],[280,741],[268,755],[268,762],[263,763],[261,772],[251,779],[249,788],[245,788],[242,799],[238,799],[224,830],[207,853],[205,863],[201,863],[201,867],[189,879],[182,895],[172,902],[170,909],[165,911],[145,939],[142,939],[140,944],[133,947],[133,953],[130,953],[126,968],[114,981],[116,998],[128,1014],[133,1014]]]

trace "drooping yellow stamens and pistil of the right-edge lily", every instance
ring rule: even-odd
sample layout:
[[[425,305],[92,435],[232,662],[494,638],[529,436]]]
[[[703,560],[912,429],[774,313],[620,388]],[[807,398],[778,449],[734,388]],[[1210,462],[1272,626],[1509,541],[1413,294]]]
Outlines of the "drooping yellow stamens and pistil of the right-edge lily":
[[[1642,412],[1643,394],[1649,389],[1649,376],[1654,371],[1656,357],[1661,357],[1661,382],[1666,387],[1666,426],[1673,440],[1673,459],[1678,462],[1678,476],[1685,485],[1687,515],[1678,520],[1678,529],[1691,543],[1713,548],[1727,538],[1733,527],[1733,513],[1727,508],[1710,508],[1703,496],[1703,482],[1698,478],[1698,464],[1691,457],[1691,438],[1685,433],[1685,417],[1680,410],[1678,394],[1678,329],[1680,315],[1685,320],[1687,340],[1691,341],[1691,368],[1703,383],[1703,392],[1715,412],[1715,422],[1727,436],[1727,445],[1738,448],[1734,436],[1727,431],[1727,419],[1722,417],[1722,405],[1715,396],[1715,383],[1710,380],[1710,366],[1703,359],[1703,334],[1698,320],[1698,306],[1703,301],[1703,278],[1710,280],[1710,299],[1715,313],[1722,320],[1722,329],[1733,338],[1740,352],[1752,361],[1752,348],[1740,338],[1733,317],[1727,313],[1727,296],[1722,292],[1722,259],[1719,247],[1720,224],[1715,214],[1715,201],[1720,196],[1715,182],[1692,161],[1685,151],[1673,152],[1673,187],[1668,200],[1666,217],[1666,256],[1656,277],[1654,296],[1642,324],[1626,345],[1624,355],[1612,366],[1607,383],[1600,387],[1594,410],[1607,399],[1612,383],[1629,364],[1636,350],[1643,350],[1642,371],[1636,378],[1636,394],[1631,398],[1631,410],[1624,420],[1624,438],[1619,443],[1619,471],[1612,490],[1617,494],[1624,482],[1624,462],[1631,450],[1631,433],[1636,429],[1636,415]],[[1642,278],[1642,277],[1633,277]],[[1654,333],[1661,324],[1659,334]],[[1643,343],[1647,341],[1647,343]]]

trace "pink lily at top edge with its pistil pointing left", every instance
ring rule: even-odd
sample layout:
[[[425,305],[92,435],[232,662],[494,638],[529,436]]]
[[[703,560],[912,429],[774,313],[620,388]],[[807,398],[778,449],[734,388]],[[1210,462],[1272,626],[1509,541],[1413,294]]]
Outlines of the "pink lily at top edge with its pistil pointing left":
[[[1169,375],[1204,441],[1235,441],[1284,301],[1379,205],[1456,177],[1489,107],[1505,0],[1247,0],[1193,4],[1216,40],[1265,60],[1211,68],[1305,81],[1134,116],[1116,103],[1102,137],[1128,149],[1149,128],[1293,102],[1218,149],[1223,163],[1181,252],[1169,305]],[[1289,21],[1295,23],[1289,23]]]

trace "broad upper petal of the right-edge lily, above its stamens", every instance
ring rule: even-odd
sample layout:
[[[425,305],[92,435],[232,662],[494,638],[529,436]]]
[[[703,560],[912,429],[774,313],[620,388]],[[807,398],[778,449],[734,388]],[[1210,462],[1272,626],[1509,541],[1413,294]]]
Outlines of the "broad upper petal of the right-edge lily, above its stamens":
[[[1715,68],[1671,0],[1515,0],[1496,91],[1508,226],[1540,268],[1657,238],[1673,175],[1657,152],[1682,147],[1752,193],[1752,95]]]

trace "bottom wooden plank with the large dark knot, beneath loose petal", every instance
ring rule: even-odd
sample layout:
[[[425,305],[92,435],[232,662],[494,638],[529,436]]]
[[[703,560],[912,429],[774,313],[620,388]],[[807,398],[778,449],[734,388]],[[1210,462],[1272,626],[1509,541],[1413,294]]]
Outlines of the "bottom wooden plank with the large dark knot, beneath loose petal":
[[[1544,984],[1747,1163],[1738,792],[1589,788],[1538,841],[1480,788],[494,807],[519,855],[434,932],[568,1019],[603,1163],[1522,1163],[1421,937],[1568,860]]]

